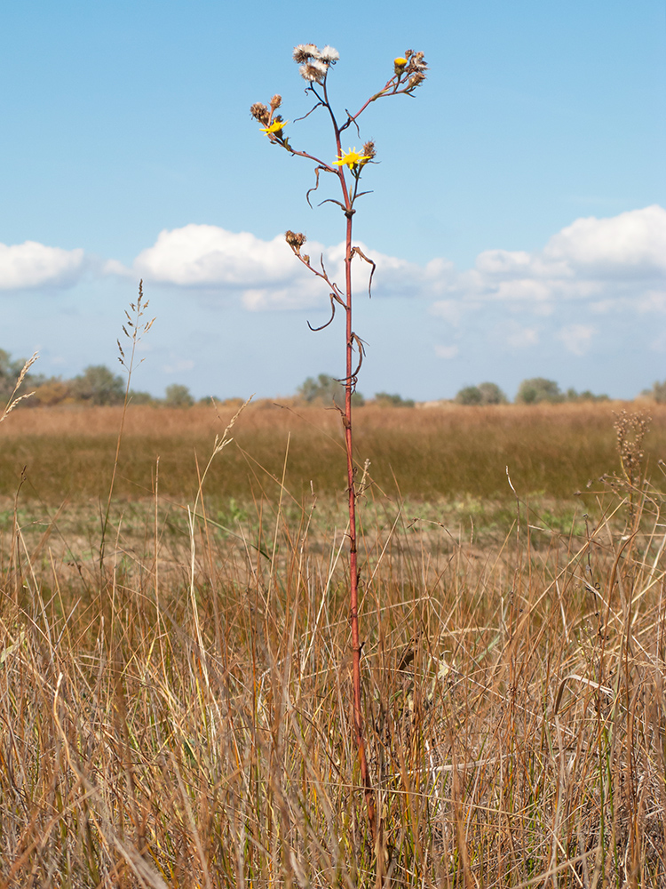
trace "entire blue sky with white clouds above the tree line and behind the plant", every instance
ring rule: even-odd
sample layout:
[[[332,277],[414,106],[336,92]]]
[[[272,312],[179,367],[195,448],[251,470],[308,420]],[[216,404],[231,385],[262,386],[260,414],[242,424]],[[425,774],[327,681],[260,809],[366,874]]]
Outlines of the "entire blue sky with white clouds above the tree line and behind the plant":
[[[666,378],[666,4],[438,0],[13,4],[0,33],[0,348],[64,377],[115,365],[139,277],[156,316],[135,388],[289,395],[342,374],[327,292],[276,241],[337,268],[344,217],[248,109],[309,108],[294,44],[332,44],[343,113],[407,47],[416,98],[370,106],[355,240],[360,390],[429,399],[531,376],[630,397]],[[294,144],[335,156],[316,114]],[[335,196],[327,192],[327,196]],[[246,233],[241,236],[241,233]],[[341,319],[340,319],[341,320]]]

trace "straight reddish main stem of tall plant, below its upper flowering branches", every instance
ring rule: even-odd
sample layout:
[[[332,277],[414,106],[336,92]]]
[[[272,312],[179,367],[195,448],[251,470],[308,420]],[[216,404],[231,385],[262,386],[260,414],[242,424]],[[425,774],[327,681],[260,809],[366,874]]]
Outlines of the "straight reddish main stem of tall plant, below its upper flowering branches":
[[[356,535],[356,486],[353,469],[352,393],[353,393],[353,328],[352,328],[352,212],[347,212],[345,252],[346,291],[346,379],[345,379],[345,445],[347,452],[347,482],[349,485],[349,575],[350,621],[352,624],[352,682],[353,682],[353,733],[359,755],[361,781],[368,809],[368,821],[373,842],[377,839],[377,812],[375,795],[368,769],[361,711],[361,639],[359,636],[359,569]]]

